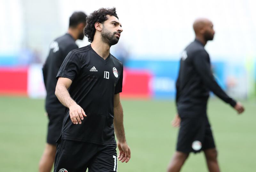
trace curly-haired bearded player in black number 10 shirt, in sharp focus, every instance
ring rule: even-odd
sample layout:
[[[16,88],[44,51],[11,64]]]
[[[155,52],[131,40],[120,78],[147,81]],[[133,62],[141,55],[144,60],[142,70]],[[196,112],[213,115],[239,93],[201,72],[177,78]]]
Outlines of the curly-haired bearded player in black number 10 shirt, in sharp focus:
[[[92,12],[84,28],[92,44],[72,50],[60,67],[55,94],[67,109],[54,172],[117,171],[117,159],[131,158],[119,96],[123,64],[110,54],[122,31],[116,8]]]

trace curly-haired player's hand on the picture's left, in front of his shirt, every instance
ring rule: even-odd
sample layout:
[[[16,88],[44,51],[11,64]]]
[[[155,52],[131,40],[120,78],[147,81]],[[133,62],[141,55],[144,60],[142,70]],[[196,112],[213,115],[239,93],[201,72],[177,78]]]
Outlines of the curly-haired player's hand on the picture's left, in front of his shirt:
[[[75,102],[69,106],[69,116],[73,124],[82,124],[81,120],[86,117],[84,110]]]

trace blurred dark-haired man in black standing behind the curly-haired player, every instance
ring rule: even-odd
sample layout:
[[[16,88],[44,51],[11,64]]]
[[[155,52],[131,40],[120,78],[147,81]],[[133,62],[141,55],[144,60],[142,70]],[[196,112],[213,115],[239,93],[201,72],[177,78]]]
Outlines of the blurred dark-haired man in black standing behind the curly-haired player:
[[[39,163],[40,172],[50,172],[56,154],[56,141],[61,132],[62,121],[65,115],[65,107],[55,96],[56,75],[62,62],[68,53],[78,48],[75,41],[83,39],[83,29],[86,24],[84,12],[74,12],[69,18],[68,33],[52,41],[50,53],[43,67],[44,84],[46,89],[45,109],[48,114],[49,124],[47,143]]]

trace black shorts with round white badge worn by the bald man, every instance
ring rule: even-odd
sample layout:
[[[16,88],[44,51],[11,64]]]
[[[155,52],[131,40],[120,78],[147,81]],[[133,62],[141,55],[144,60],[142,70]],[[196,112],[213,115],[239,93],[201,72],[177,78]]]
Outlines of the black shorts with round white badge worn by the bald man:
[[[215,143],[207,116],[181,118],[176,150],[197,153],[210,148],[215,148]]]

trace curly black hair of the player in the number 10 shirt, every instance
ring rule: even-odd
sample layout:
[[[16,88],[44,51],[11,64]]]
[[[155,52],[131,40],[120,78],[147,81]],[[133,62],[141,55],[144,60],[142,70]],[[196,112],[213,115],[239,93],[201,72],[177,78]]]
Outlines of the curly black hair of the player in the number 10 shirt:
[[[84,35],[88,38],[89,42],[93,41],[94,34],[96,32],[95,29],[95,23],[103,23],[106,21],[108,18],[106,17],[107,15],[110,16],[115,16],[117,17],[116,14],[116,8],[100,8],[97,11],[93,11],[89,16],[86,18],[86,26],[84,28]]]

